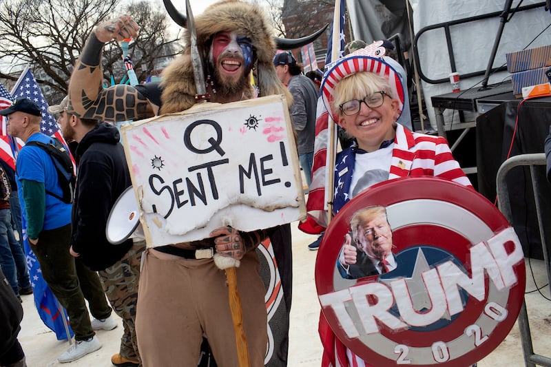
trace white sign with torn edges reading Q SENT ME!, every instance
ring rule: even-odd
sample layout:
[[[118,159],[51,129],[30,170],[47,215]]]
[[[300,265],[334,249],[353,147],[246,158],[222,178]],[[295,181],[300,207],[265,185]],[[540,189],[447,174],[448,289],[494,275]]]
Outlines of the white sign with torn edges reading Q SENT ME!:
[[[200,103],[122,127],[149,247],[253,231],[306,215],[283,96]]]

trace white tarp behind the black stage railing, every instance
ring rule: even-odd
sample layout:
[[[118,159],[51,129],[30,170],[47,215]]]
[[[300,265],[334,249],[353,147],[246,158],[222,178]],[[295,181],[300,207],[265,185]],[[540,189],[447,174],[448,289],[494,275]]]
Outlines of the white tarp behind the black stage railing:
[[[386,1],[383,2],[386,3]],[[514,9],[519,2],[519,0],[513,1],[512,9]],[[521,6],[539,2],[541,1],[524,0]],[[351,19],[356,38],[361,39],[362,34],[359,33],[360,31],[356,31],[361,28],[355,27],[354,23],[365,23],[366,19],[369,18],[368,14],[362,15],[362,12],[358,12],[357,10],[362,8],[368,9],[369,7],[366,6],[367,3],[371,3],[373,9],[380,9],[379,6],[381,3],[378,0],[347,1],[349,9],[355,9],[351,10]],[[413,9],[414,32],[417,34],[419,30],[428,25],[474,17],[491,12],[501,12],[503,11],[505,3],[506,1],[503,0],[410,0],[410,5]],[[455,65],[459,75],[486,70],[500,22],[501,18],[496,17],[450,27]],[[493,67],[505,65],[505,55],[509,52],[522,50],[527,46],[528,48],[534,48],[551,44],[551,30],[545,30],[550,23],[551,14],[545,12],[543,7],[514,14],[511,20],[506,23],[503,28],[503,34],[501,34],[501,40]],[[538,36],[542,31],[543,33]],[[386,34],[386,36],[391,35],[392,34]],[[530,43],[533,39],[535,39],[533,43]],[[417,46],[421,70],[424,74],[430,79],[448,78],[451,68],[444,28],[424,33],[419,38]],[[508,79],[510,79],[510,74],[508,74],[508,72],[499,72],[490,76],[489,84],[499,83]],[[461,90],[466,90],[472,85],[477,84],[476,87],[479,87],[479,83],[483,80],[484,75],[468,79],[461,78]],[[428,116],[430,118],[430,124],[435,128],[435,114],[430,97],[451,92],[451,86],[449,83],[434,85],[422,82],[422,91]],[[451,114],[451,111],[446,111],[444,115],[446,123],[449,123],[448,120]],[[475,116],[471,117],[471,119],[474,120]],[[457,113],[454,114],[454,118],[458,118]],[[467,118],[469,119],[469,117]]]

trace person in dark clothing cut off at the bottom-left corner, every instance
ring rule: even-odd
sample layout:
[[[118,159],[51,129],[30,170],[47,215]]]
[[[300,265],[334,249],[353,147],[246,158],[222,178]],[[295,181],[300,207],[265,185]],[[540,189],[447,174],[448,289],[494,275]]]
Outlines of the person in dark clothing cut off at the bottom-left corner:
[[[0,270],[0,366],[27,367],[25,353],[17,340],[23,308]]]

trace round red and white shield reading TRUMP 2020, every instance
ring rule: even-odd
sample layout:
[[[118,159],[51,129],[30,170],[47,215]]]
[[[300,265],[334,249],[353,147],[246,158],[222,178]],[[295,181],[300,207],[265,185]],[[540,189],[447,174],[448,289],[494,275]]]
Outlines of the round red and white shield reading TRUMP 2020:
[[[356,227],[356,213],[373,206],[386,209],[391,232],[371,217]],[[338,267],[351,222],[361,229],[358,252],[370,255],[371,246],[375,254],[355,263],[364,266],[360,276],[350,276],[352,265],[347,273]],[[393,267],[368,272],[381,260],[382,237],[393,244]],[[315,282],[329,326],[369,364],[453,367],[474,364],[505,339],[526,273],[517,235],[486,198],[439,178],[402,178],[373,185],[335,216]]]

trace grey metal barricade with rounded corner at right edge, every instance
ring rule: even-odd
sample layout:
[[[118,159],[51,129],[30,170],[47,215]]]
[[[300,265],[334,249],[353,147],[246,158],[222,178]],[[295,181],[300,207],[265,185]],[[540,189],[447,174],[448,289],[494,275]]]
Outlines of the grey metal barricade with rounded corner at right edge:
[[[545,154],[521,154],[509,158],[497,171],[496,185],[497,185],[497,201],[499,210],[503,213],[503,216],[512,223],[512,213],[510,200],[508,196],[506,176],[508,172],[514,167],[518,166],[530,166],[530,178],[532,180],[532,189],[534,191],[534,203],[536,205],[537,220],[539,227],[539,237],[541,239],[543,261],[545,262],[545,270],[547,271],[548,281],[551,281],[551,270],[549,264],[549,254],[547,245],[545,244],[545,236],[543,234],[543,219],[541,218],[541,208],[538,198],[539,185],[536,179],[534,166],[545,165]],[[551,287],[550,287],[551,288]],[[532,335],[530,334],[530,323],[528,321],[528,312],[526,311],[526,300],[523,302],[521,311],[519,313],[519,331],[521,334],[522,350],[524,354],[524,364],[528,367],[535,367],[536,364],[541,366],[551,366],[551,358],[543,355],[534,354],[534,348],[532,346]]]

